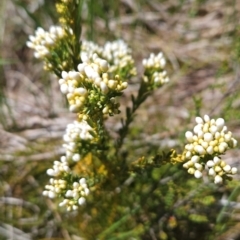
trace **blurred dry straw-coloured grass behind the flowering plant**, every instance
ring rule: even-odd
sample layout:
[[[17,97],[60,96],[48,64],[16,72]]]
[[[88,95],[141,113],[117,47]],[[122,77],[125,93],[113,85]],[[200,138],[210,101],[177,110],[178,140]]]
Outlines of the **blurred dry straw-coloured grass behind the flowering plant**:
[[[43,25],[52,23],[41,4],[34,10],[31,1],[23,2],[29,2]],[[179,146],[182,133],[199,112],[225,116],[239,140],[240,73],[233,46],[240,2],[182,1],[181,5],[179,0],[121,0],[119,5],[119,16],[109,17],[111,34],[103,19],[95,19],[96,40],[103,42],[109,35],[125,39],[134,49],[139,72],[143,57],[162,50],[171,76],[170,84],[156,91],[138,111],[133,124],[137,136],[132,137],[136,151],[140,151],[141,140],[163,147]],[[0,65],[4,92],[0,110],[0,239],[73,239],[56,206],[41,197],[41,191],[46,169],[63,153],[61,137],[74,116],[65,107],[57,79],[43,72],[25,46],[34,21],[14,1],[2,0],[0,12],[4,13],[0,14],[1,59],[11,60]],[[83,32],[87,29],[84,25]],[[136,89],[133,80],[123,98],[125,105]],[[113,132],[119,127],[117,120],[108,121]],[[238,166],[238,155],[237,149],[227,158]]]

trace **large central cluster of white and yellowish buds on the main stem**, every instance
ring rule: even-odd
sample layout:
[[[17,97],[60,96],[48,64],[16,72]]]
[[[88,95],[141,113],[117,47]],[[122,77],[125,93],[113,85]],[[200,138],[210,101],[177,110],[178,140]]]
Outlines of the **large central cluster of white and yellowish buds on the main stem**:
[[[107,94],[122,92],[128,83],[118,75],[111,77],[108,62],[96,53],[91,58],[82,53],[81,58],[83,63],[78,65],[78,71],[63,71],[59,80],[61,92],[67,95],[69,110],[84,113],[84,109],[86,112],[89,109],[100,109],[103,113],[117,113],[115,98],[108,99]]]

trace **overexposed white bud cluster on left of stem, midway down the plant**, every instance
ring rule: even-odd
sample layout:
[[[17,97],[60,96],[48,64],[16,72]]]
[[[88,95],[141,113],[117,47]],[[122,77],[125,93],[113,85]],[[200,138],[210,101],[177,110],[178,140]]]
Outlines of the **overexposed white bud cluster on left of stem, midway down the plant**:
[[[63,136],[63,147],[66,149],[66,159],[78,162],[81,160],[81,147],[83,142],[89,142],[93,139],[94,129],[84,120],[74,121],[67,125],[66,133]],[[65,161],[64,161],[65,163]]]

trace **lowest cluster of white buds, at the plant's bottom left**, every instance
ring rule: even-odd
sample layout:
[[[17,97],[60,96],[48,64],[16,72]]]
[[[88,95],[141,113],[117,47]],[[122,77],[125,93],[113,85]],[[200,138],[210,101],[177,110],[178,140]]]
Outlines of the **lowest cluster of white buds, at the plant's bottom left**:
[[[66,180],[50,179],[50,184],[45,186],[43,195],[49,198],[55,198],[58,195],[64,194],[64,199],[59,203],[60,207],[65,206],[67,211],[77,210],[78,205],[83,205],[86,202],[86,196],[90,193],[85,178],[81,178],[78,182],[73,182],[72,188],[67,189]]]

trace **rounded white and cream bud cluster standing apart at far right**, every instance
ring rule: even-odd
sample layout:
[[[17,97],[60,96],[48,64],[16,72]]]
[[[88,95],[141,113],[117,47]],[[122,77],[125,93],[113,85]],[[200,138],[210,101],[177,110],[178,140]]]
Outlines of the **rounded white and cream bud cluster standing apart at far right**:
[[[203,119],[196,117],[196,123],[193,132],[187,131],[185,134],[188,144],[183,159],[188,161],[183,167],[196,178],[202,177],[206,167],[214,182],[221,183],[224,175],[236,174],[237,169],[231,168],[219,156],[236,147],[237,140],[232,137],[232,132],[227,131],[223,118],[215,120],[205,115]]]

